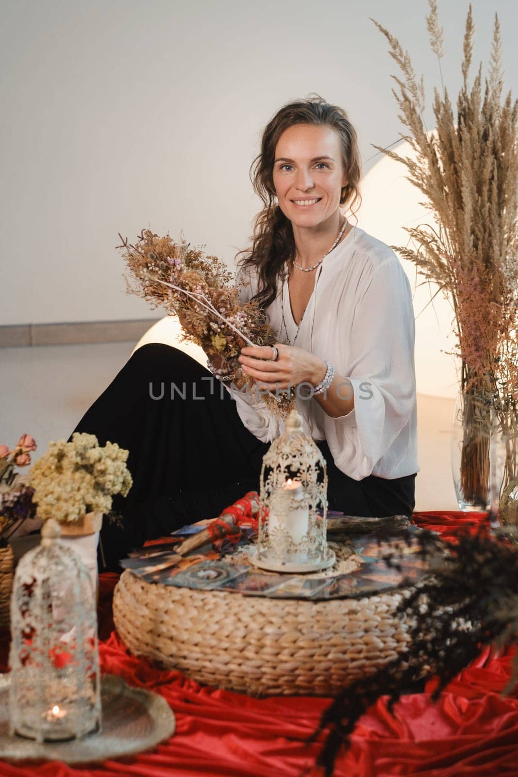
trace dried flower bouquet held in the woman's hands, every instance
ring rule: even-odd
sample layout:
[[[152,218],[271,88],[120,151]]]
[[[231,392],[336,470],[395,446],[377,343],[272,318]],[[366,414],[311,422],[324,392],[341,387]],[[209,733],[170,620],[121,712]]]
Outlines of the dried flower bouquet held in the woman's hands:
[[[273,345],[276,336],[256,302],[242,304],[227,266],[217,256],[190,247],[183,235],[175,242],[169,233],[159,237],[143,229],[135,246],[119,236],[122,246],[116,247],[124,249],[133,281],[132,285],[126,279],[127,293],[137,294],[152,308],[162,306],[178,315],[183,341],[202,347],[217,374],[285,417],[294,406],[294,389],[278,396],[259,389],[238,362],[242,347]]]

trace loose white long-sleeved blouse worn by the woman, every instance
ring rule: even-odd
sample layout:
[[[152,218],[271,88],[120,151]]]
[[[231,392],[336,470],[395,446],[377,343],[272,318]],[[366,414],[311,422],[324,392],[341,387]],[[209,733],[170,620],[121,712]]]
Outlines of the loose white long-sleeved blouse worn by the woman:
[[[242,278],[247,281],[240,290],[245,302],[256,294],[256,270],[240,268],[236,281]],[[276,299],[265,312],[276,341],[287,343],[285,323],[293,344],[297,324],[287,280],[278,283]],[[295,404],[305,434],[325,439],[335,465],[354,480],[419,472],[414,341],[412,290],[398,256],[381,240],[353,227],[318,267],[294,344],[330,361],[353,385],[354,408],[338,418],[325,413],[313,398],[297,396]],[[260,441],[273,441],[283,433],[284,421],[258,403],[253,391],[246,395],[227,389],[245,427]],[[347,389],[340,389],[344,396]]]

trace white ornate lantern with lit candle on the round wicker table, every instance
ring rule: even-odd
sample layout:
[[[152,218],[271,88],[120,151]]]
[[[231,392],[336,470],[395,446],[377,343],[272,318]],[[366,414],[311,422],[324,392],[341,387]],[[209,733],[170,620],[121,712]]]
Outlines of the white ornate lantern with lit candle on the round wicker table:
[[[314,572],[335,563],[327,544],[327,469],[296,409],[262,458],[259,534],[250,560],[276,572]],[[321,514],[322,513],[322,514]]]

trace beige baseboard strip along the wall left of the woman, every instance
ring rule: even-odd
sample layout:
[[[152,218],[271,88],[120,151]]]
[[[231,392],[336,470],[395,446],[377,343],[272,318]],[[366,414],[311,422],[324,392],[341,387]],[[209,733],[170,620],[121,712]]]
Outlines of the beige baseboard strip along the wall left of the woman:
[[[127,321],[85,321],[57,324],[0,326],[0,348],[31,345],[73,345],[78,343],[137,342],[160,319]]]

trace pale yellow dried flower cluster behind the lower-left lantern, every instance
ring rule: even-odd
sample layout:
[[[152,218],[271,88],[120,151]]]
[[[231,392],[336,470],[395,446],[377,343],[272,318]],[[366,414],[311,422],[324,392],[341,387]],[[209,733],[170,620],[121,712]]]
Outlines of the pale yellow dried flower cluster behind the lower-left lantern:
[[[112,497],[126,497],[133,485],[128,455],[116,443],[100,447],[95,434],[75,432],[71,442],[50,442],[30,469],[37,517],[68,523],[90,512],[109,513]]]

